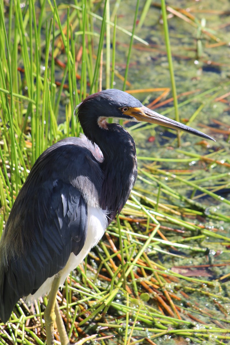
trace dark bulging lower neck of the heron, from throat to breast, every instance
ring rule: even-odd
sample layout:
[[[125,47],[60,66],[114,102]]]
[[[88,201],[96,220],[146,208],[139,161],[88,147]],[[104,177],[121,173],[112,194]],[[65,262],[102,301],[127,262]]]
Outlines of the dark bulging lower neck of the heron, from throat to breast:
[[[100,134],[95,140],[104,156],[100,206],[108,211],[110,223],[120,213],[136,181],[136,148],[131,135],[118,124],[108,124],[108,130],[101,129]]]

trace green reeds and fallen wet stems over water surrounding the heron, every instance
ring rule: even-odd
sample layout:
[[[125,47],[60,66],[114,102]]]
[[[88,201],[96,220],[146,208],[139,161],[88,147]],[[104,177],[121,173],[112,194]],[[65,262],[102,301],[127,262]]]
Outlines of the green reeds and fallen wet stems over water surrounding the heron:
[[[81,132],[89,93],[127,90],[216,139],[123,124],[139,177],[58,294],[71,343],[230,341],[229,14],[227,0],[1,1],[0,235],[36,158]],[[0,345],[44,344],[46,304],[21,300]]]

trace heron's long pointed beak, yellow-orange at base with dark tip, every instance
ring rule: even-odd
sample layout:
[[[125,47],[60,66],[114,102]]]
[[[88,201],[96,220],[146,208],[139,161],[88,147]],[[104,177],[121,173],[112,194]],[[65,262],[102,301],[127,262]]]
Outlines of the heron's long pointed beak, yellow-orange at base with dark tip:
[[[150,122],[152,124],[161,125],[164,127],[169,127],[172,129],[177,130],[183,130],[185,132],[189,132],[191,134],[197,135],[202,138],[210,139],[213,141],[213,138],[210,136],[193,129],[189,126],[183,125],[180,122],[174,121],[172,119],[169,119],[168,117],[165,117],[163,115],[158,114],[156,111],[153,111],[147,107],[140,107],[140,108],[129,108],[126,112],[124,112],[125,115],[129,115],[134,117],[137,121],[144,121],[144,122]]]

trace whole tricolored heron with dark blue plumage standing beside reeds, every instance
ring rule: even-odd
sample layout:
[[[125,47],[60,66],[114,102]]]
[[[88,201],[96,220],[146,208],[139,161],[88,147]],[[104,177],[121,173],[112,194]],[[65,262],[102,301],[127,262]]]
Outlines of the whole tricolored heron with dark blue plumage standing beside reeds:
[[[0,318],[6,322],[23,296],[30,302],[49,294],[47,344],[54,344],[55,314],[61,344],[69,343],[56,301],[59,285],[120,213],[137,178],[133,138],[106,118],[151,122],[214,140],[116,89],[94,93],[77,108],[84,136],[61,140],[37,159],[0,243]]]

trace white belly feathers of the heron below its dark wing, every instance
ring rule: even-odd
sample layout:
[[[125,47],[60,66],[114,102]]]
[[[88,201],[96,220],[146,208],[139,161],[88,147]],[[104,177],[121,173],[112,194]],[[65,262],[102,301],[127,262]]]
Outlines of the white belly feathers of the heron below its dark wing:
[[[66,266],[59,272],[61,279],[60,285],[63,285],[68,274],[76,268],[89,253],[90,249],[99,242],[107,227],[106,212],[100,208],[88,206],[88,231],[86,242],[81,252],[76,256],[73,253],[70,254],[69,260]],[[51,285],[55,275],[48,278],[33,295],[28,295],[25,299],[26,302],[33,302],[45,294],[49,294]]]

